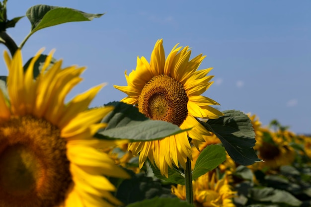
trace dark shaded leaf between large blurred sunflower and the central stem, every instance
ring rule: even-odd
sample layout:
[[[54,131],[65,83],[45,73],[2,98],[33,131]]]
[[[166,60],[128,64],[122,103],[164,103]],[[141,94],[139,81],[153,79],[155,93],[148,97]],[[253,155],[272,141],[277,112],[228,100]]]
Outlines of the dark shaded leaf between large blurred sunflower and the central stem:
[[[130,170],[127,172],[131,179],[123,180],[115,193],[115,197],[125,205],[155,197],[175,197],[171,194],[170,186],[163,187],[159,180],[153,181],[153,178],[146,177],[145,173],[135,174]],[[115,179],[113,178],[112,183],[115,183]]]

